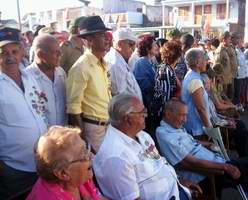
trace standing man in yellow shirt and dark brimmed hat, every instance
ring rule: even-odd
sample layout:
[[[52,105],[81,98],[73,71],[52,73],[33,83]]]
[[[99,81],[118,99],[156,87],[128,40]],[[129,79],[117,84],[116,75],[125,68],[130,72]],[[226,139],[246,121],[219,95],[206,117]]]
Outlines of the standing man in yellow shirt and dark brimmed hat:
[[[85,40],[87,50],[69,70],[66,81],[69,124],[82,130],[82,137],[97,152],[108,121],[108,103],[111,98],[107,65],[103,60],[108,48],[105,27],[99,16],[81,21],[79,37]]]

